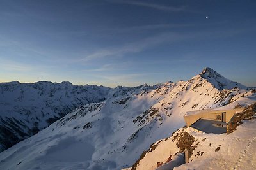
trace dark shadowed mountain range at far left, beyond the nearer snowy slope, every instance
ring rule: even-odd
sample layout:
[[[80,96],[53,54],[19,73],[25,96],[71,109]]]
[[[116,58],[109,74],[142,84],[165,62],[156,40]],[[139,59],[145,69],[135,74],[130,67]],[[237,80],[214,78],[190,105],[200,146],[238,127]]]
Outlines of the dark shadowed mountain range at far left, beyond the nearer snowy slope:
[[[83,104],[103,101],[108,87],[69,82],[0,83],[0,151]]]

